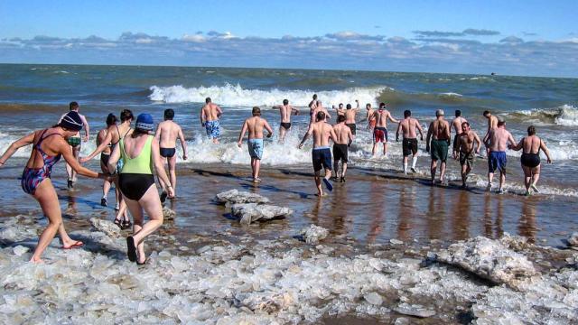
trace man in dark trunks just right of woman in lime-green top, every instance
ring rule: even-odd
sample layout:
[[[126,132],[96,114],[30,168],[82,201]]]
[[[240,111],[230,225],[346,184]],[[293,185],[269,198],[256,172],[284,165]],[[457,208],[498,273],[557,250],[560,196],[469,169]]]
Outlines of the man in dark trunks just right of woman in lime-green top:
[[[166,163],[169,165],[169,177],[171,179],[172,191],[176,194],[177,190],[177,156],[176,156],[176,146],[177,138],[181,140],[182,147],[182,160],[187,160],[187,142],[182,135],[181,125],[176,124],[172,121],[174,118],[174,111],[171,108],[164,110],[164,121],[159,123],[154,133],[154,139],[159,143],[159,150],[161,153],[161,160],[166,159]],[[163,162],[164,163],[164,162]],[[161,181],[161,179],[159,179]],[[161,184],[161,187],[165,188],[167,184]],[[164,202],[167,198],[167,193],[163,191],[161,193],[161,202]],[[173,200],[175,197],[169,197]]]

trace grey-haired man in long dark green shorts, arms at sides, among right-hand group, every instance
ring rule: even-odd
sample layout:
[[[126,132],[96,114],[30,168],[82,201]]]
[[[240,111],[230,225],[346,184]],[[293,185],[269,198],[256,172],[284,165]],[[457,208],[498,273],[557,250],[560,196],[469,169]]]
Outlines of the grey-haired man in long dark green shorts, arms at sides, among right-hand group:
[[[432,155],[432,166],[430,168],[432,173],[432,185],[435,184],[435,170],[437,169],[437,161],[442,161],[440,168],[440,182],[443,183],[443,176],[445,175],[445,163],[448,160],[448,147],[450,146],[450,124],[443,118],[443,109],[435,111],[435,120],[427,129],[427,137],[425,139],[425,151]],[[431,142],[431,146],[430,146]],[[430,151],[431,147],[431,151]]]

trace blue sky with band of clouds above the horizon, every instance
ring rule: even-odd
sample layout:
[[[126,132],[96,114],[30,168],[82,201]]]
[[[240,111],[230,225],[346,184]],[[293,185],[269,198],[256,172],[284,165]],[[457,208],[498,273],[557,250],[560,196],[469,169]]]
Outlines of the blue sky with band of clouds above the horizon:
[[[578,2],[0,1],[0,62],[578,77]]]

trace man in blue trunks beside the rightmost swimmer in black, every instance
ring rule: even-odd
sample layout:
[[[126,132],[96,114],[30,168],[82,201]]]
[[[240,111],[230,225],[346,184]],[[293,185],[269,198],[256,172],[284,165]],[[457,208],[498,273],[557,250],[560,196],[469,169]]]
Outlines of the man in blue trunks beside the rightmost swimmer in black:
[[[499,170],[499,189],[498,193],[504,192],[504,183],[506,182],[506,149],[509,144],[516,144],[514,137],[506,130],[506,121],[502,117],[497,117],[498,125],[489,130],[488,138],[484,142],[489,149],[488,155],[488,187],[491,191],[494,172]]]

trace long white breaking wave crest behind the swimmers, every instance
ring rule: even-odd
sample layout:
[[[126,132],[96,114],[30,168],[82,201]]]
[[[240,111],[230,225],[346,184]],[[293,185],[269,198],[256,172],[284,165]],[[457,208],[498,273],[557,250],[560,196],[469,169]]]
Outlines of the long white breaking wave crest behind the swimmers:
[[[359,99],[360,105],[371,103],[376,105],[379,94],[387,87],[375,88],[345,88],[343,90],[318,91],[312,90],[281,90],[272,89],[247,89],[240,85],[226,84],[225,86],[211,86],[198,88],[184,88],[182,86],[150,88],[152,94],[149,98],[153,101],[165,103],[204,103],[205,98],[219,105],[228,107],[253,107],[279,105],[284,98],[297,107],[306,107],[311,101],[313,93],[316,93],[326,107],[339,103],[354,103]]]

